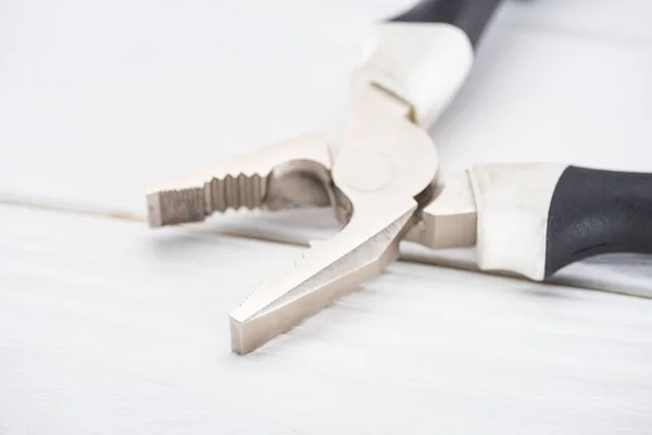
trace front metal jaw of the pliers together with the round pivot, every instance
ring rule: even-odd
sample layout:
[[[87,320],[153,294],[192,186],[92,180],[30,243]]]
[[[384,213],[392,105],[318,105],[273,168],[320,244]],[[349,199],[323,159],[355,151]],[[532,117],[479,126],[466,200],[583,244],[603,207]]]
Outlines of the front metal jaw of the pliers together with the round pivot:
[[[334,156],[333,179],[350,221],[284,273],[263,282],[230,313],[231,349],[251,352],[379,274],[434,192],[437,153],[384,90],[360,90]]]

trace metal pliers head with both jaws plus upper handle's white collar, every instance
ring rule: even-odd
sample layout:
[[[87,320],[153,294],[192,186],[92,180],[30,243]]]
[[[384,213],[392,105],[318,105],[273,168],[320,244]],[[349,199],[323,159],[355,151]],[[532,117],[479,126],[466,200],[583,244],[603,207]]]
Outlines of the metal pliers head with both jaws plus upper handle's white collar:
[[[336,144],[321,135],[233,158],[152,186],[150,226],[227,209],[330,206],[343,227],[261,283],[229,316],[231,349],[248,353],[377,275],[418,239],[436,195],[438,156],[426,132],[471,67],[467,36],[449,25],[387,23],[354,72]],[[451,49],[453,48],[453,49]],[[412,229],[415,231],[412,231]]]

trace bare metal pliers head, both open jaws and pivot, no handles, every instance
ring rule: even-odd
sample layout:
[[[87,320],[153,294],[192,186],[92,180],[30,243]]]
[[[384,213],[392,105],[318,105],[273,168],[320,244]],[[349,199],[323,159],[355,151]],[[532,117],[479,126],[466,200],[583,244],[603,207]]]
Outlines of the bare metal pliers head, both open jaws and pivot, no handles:
[[[399,243],[434,196],[437,152],[410,105],[375,86],[358,89],[337,146],[297,137],[152,186],[151,226],[198,222],[227,209],[334,207],[343,227],[230,313],[231,349],[247,353],[290,330],[399,254]]]

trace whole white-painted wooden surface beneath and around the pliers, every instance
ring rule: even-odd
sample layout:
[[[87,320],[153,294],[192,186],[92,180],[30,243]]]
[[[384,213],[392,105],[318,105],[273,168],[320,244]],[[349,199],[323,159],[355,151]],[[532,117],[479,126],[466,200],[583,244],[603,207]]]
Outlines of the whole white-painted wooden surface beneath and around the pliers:
[[[331,220],[141,222],[151,181],[334,128],[365,32],[409,4],[0,2],[1,434],[652,434],[652,300],[616,294],[652,294],[645,257],[557,279],[610,291],[401,261],[236,357],[227,313],[301,252],[251,237],[303,244]],[[650,16],[505,1],[431,132],[443,170],[652,171]]]

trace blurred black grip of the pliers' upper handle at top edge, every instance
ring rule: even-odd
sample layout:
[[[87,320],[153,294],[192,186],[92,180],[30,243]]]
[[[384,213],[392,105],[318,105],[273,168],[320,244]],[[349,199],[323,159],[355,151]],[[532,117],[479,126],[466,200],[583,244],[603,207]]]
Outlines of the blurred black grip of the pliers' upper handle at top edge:
[[[475,48],[501,0],[422,0],[390,22],[448,23],[464,30]]]

